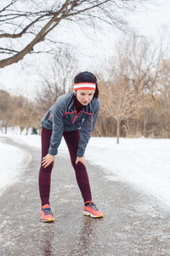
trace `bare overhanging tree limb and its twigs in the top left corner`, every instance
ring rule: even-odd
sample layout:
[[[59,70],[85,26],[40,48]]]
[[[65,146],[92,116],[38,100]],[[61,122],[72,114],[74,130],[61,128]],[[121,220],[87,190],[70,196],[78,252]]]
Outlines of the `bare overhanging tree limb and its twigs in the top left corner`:
[[[124,11],[136,10],[138,5],[149,2],[150,0],[3,0],[0,3],[1,42],[3,39],[0,53],[4,58],[0,61],[0,67],[16,63],[27,54],[43,51],[36,45],[45,39],[55,44],[57,40],[52,40],[48,34],[61,20],[83,21],[90,26],[94,26],[94,21],[99,20],[126,30]],[[45,49],[46,52],[50,50]]]

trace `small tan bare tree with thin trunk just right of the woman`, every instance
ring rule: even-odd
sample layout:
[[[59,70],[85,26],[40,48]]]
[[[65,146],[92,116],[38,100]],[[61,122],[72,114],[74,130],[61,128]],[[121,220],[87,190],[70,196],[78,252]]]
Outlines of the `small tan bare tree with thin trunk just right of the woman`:
[[[103,111],[107,117],[116,119],[116,143],[119,143],[121,121],[137,118],[141,114],[142,96],[137,95],[122,77],[108,84],[108,87],[104,84],[99,86],[100,99],[103,102],[101,112]]]

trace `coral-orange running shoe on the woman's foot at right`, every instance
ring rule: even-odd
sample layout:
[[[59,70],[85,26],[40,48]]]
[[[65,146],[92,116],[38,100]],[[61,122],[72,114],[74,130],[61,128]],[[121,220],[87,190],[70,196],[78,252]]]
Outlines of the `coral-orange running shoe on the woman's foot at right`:
[[[100,212],[99,209],[94,205],[93,201],[86,201],[84,203],[84,215],[90,216],[92,218],[101,218],[104,216],[103,212]]]

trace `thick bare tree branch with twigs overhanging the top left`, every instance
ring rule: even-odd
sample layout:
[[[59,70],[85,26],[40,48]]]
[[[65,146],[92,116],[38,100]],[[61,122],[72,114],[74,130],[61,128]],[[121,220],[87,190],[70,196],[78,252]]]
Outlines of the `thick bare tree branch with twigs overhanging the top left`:
[[[7,32],[1,30],[2,33],[0,34],[0,38],[9,38],[9,39],[23,38],[24,34],[35,32],[35,29],[38,28],[39,22],[41,22],[40,23],[41,28],[39,28],[39,32],[37,32],[36,36],[31,40],[31,42],[27,44],[23,49],[21,49],[20,52],[16,51],[17,52],[16,55],[0,61],[0,67],[6,67],[8,65],[16,63],[22,60],[26,54],[31,53],[34,50],[33,49],[34,46],[42,42],[46,38],[48,33],[54,30],[55,26],[59,25],[60,20],[72,19],[77,21],[77,19],[74,19],[74,17],[77,17],[80,20],[85,20],[86,18],[84,19],[84,17],[88,16],[88,21],[91,26],[94,25],[93,23],[94,20],[98,18],[100,20],[104,20],[105,22],[111,25],[118,27],[119,29],[122,29],[122,26],[125,26],[126,23],[125,23],[125,20],[122,19],[122,16],[120,16],[119,18],[119,14],[116,13],[116,10],[121,8],[130,9],[132,6],[136,6],[136,3],[139,3],[139,0],[135,0],[134,3],[131,3],[131,0],[128,0],[128,1],[125,1],[125,0],[117,0],[117,1],[114,1],[114,0],[102,0],[102,1],[65,0],[64,1],[65,3],[62,6],[60,5],[61,1],[59,1],[59,4],[57,4],[58,2],[54,1],[54,5],[52,5],[53,3],[51,4],[50,10],[39,11],[39,12],[37,11],[35,13],[31,13],[31,10],[29,12],[22,12],[20,10],[16,10],[17,6],[14,9],[8,9],[10,5],[18,1],[19,0],[13,0],[7,7],[1,10],[1,12],[3,12],[3,10],[6,10],[6,13],[5,15],[3,15],[3,17],[7,18],[6,24],[5,24],[7,25],[6,26]],[[140,2],[143,3],[144,0],[141,0]],[[40,9],[41,8],[42,7],[40,6]],[[55,9],[56,9],[56,12],[54,11]],[[92,10],[94,10],[93,13],[92,13]],[[9,12],[9,14],[7,11]],[[16,15],[14,16],[14,14]],[[18,16],[17,14],[20,14],[20,15]],[[37,15],[37,18],[34,18],[35,20],[32,20],[32,17],[34,17],[34,15]],[[20,19],[20,17],[22,17],[22,19]],[[26,17],[27,20],[24,17]],[[14,21],[17,20],[18,23],[11,22],[10,19]],[[47,23],[44,25],[46,19],[48,20],[46,21]],[[0,20],[0,23],[1,23],[1,20]],[[11,30],[13,30],[14,33],[11,33],[10,32]],[[4,51],[7,53],[8,49]]]

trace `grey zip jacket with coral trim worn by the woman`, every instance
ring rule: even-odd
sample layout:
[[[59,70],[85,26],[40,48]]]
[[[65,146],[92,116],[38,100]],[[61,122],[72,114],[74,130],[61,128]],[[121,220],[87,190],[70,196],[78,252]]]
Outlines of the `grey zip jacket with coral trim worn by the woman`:
[[[84,155],[89,138],[94,131],[100,102],[98,98],[94,97],[87,106],[84,106],[77,113],[74,101],[75,94],[73,91],[59,96],[55,104],[42,118],[42,127],[52,130],[50,146],[48,148],[49,154],[58,154],[59,144],[64,131],[80,130],[77,156],[82,157]]]

